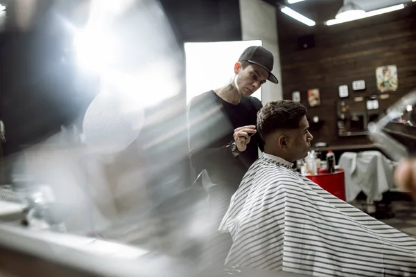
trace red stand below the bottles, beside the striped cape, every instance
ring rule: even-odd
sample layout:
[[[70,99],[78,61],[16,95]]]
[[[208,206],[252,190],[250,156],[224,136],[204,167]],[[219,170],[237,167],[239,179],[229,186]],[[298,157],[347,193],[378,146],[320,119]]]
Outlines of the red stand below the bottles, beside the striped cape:
[[[331,195],[345,201],[345,179],[344,170],[340,169],[333,173],[320,173],[318,175],[306,176],[309,180],[318,184]]]

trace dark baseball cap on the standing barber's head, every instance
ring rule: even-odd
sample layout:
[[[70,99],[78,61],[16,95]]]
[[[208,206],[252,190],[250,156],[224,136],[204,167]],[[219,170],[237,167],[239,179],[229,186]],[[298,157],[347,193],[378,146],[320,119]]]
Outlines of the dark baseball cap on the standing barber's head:
[[[239,61],[246,61],[263,67],[263,69],[266,69],[269,73],[267,80],[275,84],[279,83],[276,76],[272,73],[274,63],[273,54],[266,48],[261,46],[250,46],[245,49],[243,54],[241,54]]]

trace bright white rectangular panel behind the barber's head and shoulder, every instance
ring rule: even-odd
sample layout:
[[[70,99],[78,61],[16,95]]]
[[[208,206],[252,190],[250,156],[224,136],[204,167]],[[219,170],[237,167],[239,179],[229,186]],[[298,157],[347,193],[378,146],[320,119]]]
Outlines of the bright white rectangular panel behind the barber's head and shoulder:
[[[229,84],[234,78],[234,64],[245,48],[261,45],[261,40],[186,43],[187,103],[201,93]],[[261,88],[252,96],[261,100]]]

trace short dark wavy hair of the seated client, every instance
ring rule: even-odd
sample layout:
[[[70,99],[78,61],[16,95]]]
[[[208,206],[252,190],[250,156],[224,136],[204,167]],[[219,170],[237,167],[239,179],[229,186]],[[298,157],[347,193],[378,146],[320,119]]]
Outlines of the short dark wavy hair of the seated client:
[[[276,129],[296,129],[306,115],[306,107],[292,100],[268,102],[257,113],[257,132],[264,140]]]

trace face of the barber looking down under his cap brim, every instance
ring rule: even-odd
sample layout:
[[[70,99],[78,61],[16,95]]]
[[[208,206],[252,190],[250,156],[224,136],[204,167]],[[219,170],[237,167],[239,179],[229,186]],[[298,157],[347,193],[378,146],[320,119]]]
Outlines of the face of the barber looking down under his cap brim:
[[[251,96],[264,84],[268,78],[268,71],[257,64],[250,64],[243,69],[239,62],[234,66],[234,85],[243,97]]]

